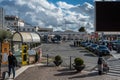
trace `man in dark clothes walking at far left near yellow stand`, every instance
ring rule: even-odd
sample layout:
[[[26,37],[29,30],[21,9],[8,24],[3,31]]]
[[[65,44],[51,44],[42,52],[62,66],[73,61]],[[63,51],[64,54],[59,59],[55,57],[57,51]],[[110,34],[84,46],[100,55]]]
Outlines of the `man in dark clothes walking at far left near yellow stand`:
[[[11,74],[11,69],[13,72],[13,79],[15,78],[15,66],[16,66],[16,58],[13,56],[13,53],[9,51],[9,56],[8,56],[8,74],[10,76]]]

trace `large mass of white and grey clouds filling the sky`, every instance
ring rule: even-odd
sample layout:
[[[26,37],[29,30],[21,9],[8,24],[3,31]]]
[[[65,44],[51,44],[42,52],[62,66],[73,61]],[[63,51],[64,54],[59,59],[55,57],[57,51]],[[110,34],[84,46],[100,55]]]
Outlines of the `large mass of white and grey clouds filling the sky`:
[[[0,0],[0,5],[6,10],[6,14],[18,15],[25,22],[37,26],[61,31],[65,30],[65,23],[67,29],[74,31],[78,31],[80,26],[93,28],[94,7],[89,3],[72,5],[59,1],[56,6],[47,0]],[[90,27],[85,25],[88,22]]]

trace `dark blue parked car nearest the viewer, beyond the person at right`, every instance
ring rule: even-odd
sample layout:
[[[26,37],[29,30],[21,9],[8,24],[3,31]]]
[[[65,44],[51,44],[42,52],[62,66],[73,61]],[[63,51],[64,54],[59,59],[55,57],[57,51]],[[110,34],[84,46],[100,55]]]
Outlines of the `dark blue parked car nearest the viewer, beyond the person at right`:
[[[97,55],[110,55],[110,50],[105,45],[99,45],[97,49],[94,51]]]

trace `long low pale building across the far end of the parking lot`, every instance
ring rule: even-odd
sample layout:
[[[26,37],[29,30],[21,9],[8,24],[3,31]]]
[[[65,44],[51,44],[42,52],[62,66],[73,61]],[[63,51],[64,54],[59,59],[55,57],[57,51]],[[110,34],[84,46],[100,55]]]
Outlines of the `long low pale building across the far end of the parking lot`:
[[[88,33],[86,32],[38,32],[41,36],[47,35],[48,37],[60,35],[61,38],[66,40],[89,40]]]

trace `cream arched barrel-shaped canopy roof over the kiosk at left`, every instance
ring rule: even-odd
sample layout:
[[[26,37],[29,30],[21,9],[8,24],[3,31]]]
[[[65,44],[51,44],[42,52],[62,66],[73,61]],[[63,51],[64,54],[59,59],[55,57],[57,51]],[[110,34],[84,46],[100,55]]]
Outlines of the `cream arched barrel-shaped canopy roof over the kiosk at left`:
[[[12,37],[13,42],[40,43],[40,36],[35,32],[16,32]]]

